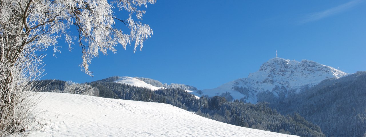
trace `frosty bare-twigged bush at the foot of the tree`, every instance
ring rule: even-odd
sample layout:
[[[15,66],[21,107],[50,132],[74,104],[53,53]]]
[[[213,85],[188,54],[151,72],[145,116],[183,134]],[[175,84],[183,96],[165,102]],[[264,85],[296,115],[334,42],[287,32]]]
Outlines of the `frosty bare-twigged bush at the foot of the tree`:
[[[23,69],[27,68],[18,64],[10,67],[0,63],[0,68],[0,136],[2,137],[25,130],[33,119],[30,114],[36,105],[36,99],[33,99],[36,92],[32,91],[41,89],[34,89],[36,83],[30,82],[34,81],[34,76],[38,72],[25,71]],[[9,77],[11,79],[8,79]]]

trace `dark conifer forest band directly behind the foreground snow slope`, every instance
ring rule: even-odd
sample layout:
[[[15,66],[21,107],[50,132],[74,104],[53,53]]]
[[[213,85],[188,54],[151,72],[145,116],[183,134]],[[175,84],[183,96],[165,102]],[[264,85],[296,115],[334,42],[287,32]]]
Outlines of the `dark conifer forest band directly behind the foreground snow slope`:
[[[118,77],[109,77],[87,84],[97,88],[99,96],[104,98],[167,103],[232,125],[305,137],[324,137],[319,126],[306,121],[299,114],[292,113],[284,116],[267,107],[265,103],[251,104],[239,100],[228,102],[220,96],[211,98],[202,96],[197,99],[194,95],[179,88],[152,91],[148,88],[115,83],[114,81],[117,79]],[[57,83],[63,82],[58,81]],[[55,84],[51,85],[57,87]],[[53,89],[53,91],[60,90]]]

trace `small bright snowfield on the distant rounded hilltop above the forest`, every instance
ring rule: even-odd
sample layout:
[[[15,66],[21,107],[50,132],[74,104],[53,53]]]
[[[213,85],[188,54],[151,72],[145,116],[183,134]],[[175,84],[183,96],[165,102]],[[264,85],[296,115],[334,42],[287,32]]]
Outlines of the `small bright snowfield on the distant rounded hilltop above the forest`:
[[[142,80],[133,78],[133,77],[119,77],[119,79],[117,79],[115,81],[116,83],[124,83],[124,84],[128,84],[128,85],[135,85],[136,87],[144,87],[144,88],[149,88],[151,90],[159,90],[160,88],[163,87],[155,87],[153,85],[147,84]]]

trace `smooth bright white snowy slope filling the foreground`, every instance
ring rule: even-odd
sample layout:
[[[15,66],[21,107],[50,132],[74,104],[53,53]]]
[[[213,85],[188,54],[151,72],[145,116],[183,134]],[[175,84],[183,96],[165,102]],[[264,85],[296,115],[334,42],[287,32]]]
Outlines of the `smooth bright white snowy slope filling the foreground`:
[[[36,110],[41,130],[30,137],[295,137],[214,121],[163,103],[45,93]],[[34,125],[33,125],[34,126]]]

